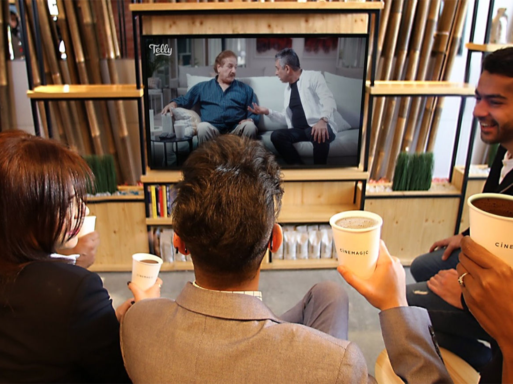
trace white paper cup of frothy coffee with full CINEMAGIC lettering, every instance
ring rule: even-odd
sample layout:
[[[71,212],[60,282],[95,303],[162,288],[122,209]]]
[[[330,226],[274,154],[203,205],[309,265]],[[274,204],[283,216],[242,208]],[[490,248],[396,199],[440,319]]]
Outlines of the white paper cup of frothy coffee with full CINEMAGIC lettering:
[[[348,210],[333,215],[329,224],[339,265],[368,279],[376,269],[383,219],[372,212]]]

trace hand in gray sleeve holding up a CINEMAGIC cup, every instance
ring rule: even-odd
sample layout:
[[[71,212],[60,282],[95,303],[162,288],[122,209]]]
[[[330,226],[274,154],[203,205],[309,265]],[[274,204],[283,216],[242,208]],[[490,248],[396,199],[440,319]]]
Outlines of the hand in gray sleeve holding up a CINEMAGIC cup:
[[[398,258],[390,256],[383,240],[380,244],[376,270],[369,279],[360,279],[341,265],[337,270],[345,281],[374,307],[384,311],[389,308],[408,306],[404,268]]]

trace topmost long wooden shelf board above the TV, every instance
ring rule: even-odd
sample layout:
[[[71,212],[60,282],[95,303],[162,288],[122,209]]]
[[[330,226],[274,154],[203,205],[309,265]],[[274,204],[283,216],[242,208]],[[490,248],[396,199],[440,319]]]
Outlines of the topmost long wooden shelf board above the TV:
[[[152,3],[152,4],[130,4],[128,9],[132,12],[172,12],[172,11],[192,11],[192,12],[205,12],[205,11],[255,11],[255,10],[336,10],[336,11],[351,11],[357,12],[359,10],[380,10],[383,9],[383,2],[266,2],[266,3],[246,3],[246,2],[231,2],[231,3]]]

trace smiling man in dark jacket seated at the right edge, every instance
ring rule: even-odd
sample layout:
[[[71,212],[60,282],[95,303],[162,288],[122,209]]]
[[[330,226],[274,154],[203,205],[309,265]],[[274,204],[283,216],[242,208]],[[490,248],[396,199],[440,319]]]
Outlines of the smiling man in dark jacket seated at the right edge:
[[[481,140],[500,144],[483,192],[513,195],[513,48],[495,51],[483,60],[473,115],[479,120]],[[430,253],[415,259],[410,271],[419,283],[408,285],[406,293],[409,305],[428,309],[440,345],[481,370],[491,351],[478,339],[494,342],[463,310],[455,270],[461,240],[469,233],[466,229],[437,241]]]

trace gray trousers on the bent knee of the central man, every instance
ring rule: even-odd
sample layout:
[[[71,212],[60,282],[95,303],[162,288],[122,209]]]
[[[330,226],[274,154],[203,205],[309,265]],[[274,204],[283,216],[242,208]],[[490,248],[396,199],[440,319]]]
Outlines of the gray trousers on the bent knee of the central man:
[[[321,282],[310,288],[305,297],[280,319],[347,340],[349,298],[340,284]]]

